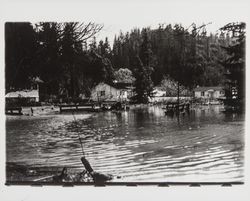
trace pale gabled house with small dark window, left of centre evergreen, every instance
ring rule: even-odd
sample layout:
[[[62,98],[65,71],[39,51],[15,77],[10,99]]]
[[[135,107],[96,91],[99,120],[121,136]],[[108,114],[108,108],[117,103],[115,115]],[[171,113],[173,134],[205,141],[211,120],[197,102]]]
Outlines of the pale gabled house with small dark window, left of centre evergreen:
[[[91,91],[93,101],[128,101],[133,96],[133,88],[127,83],[107,84],[104,82],[96,85]]]

